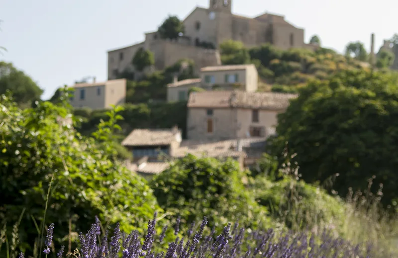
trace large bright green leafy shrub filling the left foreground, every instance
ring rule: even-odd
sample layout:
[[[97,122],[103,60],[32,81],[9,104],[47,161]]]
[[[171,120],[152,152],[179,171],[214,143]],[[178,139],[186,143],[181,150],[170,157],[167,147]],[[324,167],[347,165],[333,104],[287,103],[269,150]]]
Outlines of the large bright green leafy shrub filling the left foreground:
[[[116,161],[107,139],[111,124],[101,123],[95,140],[63,124],[69,111],[62,103],[20,110],[5,95],[0,103],[0,221],[11,234],[23,214],[23,249],[32,249],[44,221],[58,225],[54,239],[65,243],[70,231],[88,229],[96,215],[140,230],[159,209],[145,180]],[[108,115],[109,122],[120,119]]]

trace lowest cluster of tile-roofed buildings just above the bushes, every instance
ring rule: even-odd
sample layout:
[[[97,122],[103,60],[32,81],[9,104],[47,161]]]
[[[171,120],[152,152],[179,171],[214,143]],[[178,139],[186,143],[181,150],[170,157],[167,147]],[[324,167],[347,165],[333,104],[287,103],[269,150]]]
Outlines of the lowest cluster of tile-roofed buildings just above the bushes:
[[[150,179],[166,170],[170,161],[187,154],[218,159],[233,158],[243,169],[252,165],[265,148],[265,138],[227,140],[182,140],[181,130],[134,129],[122,141],[122,145],[133,154],[126,166]]]

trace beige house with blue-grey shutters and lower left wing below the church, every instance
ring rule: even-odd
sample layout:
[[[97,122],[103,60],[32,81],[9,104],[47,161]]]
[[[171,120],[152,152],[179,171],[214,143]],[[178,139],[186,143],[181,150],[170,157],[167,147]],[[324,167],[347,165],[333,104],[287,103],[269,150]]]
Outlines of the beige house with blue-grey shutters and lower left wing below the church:
[[[258,72],[253,64],[207,66],[200,69],[199,75],[199,79],[175,79],[168,84],[167,102],[187,101],[193,87],[204,90],[257,91]]]

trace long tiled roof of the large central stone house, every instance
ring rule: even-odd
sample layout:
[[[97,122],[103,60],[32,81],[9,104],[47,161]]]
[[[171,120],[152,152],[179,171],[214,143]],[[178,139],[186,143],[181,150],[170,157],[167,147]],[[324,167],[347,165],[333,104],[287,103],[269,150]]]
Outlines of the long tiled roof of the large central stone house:
[[[193,92],[188,100],[188,108],[250,108],[284,110],[290,99],[297,94],[276,92],[245,91],[204,91]]]

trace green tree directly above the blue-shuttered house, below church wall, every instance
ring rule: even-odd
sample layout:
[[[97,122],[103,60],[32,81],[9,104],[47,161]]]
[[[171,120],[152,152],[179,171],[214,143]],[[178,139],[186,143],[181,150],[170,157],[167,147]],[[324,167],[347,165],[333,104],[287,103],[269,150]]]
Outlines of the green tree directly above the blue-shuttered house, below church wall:
[[[242,42],[227,40],[220,44],[223,65],[242,65],[250,63],[249,52]]]

